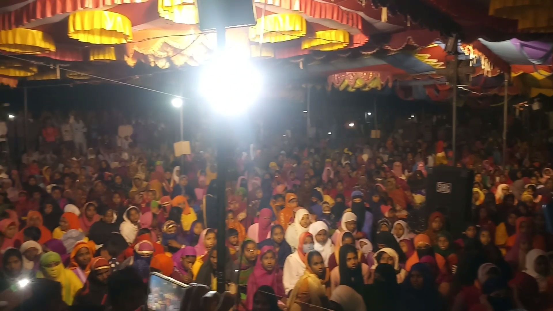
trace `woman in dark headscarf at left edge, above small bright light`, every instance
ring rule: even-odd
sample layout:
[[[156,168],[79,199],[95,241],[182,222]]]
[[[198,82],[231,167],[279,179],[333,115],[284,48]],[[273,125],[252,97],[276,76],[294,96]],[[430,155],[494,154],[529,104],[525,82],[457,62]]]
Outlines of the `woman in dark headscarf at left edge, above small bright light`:
[[[16,285],[22,279],[34,278],[35,271],[23,267],[23,255],[17,248],[8,248],[2,256],[2,272],[0,273],[0,291],[5,291]]]

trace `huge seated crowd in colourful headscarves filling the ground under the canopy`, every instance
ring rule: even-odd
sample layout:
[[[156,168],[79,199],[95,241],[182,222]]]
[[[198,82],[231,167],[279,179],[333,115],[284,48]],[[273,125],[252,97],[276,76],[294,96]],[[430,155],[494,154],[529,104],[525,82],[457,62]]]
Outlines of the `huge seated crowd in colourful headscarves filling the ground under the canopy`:
[[[67,122],[74,143],[49,139],[65,129],[48,119],[40,153],[0,168],[0,300],[12,307],[133,311],[150,272],[217,291],[225,258],[239,310],[553,308],[553,170],[527,144],[503,166],[487,139],[459,162],[446,142],[401,132],[338,150],[252,145],[228,154],[229,178],[217,185],[215,153],[200,142],[178,158],[122,125],[87,145],[81,118]],[[464,232],[425,203],[437,165],[474,171]],[[6,293],[23,286],[32,293],[11,302]]]

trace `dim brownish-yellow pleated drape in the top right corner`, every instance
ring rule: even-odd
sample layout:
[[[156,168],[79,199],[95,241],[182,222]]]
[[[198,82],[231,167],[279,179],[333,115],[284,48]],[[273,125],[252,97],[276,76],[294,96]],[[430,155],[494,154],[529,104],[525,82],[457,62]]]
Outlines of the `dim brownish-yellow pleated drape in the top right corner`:
[[[553,31],[553,0],[491,0],[489,15],[517,19],[524,32]]]

